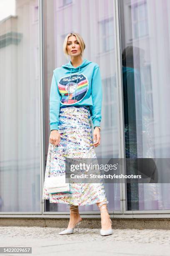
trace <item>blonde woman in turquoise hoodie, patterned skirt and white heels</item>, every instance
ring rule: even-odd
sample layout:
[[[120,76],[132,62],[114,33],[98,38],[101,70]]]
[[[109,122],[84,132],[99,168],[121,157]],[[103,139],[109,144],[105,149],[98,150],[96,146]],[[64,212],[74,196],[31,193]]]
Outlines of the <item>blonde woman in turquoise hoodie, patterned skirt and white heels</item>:
[[[45,180],[64,173],[64,158],[96,158],[94,147],[100,145],[100,120],[102,84],[99,66],[82,59],[85,43],[78,33],[65,37],[63,50],[70,61],[53,71],[50,90],[50,139]],[[94,125],[92,130],[90,117]],[[94,140],[94,141],[92,141]],[[94,142],[94,143],[93,143]],[[55,159],[55,160],[54,160]],[[57,160],[56,160],[57,159]],[[56,166],[57,165],[57,166]],[[107,199],[102,183],[70,183],[71,193],[48,194],[43,189],[43,199],[51,203],[70,206],[70,222],[63,234],[73,233],[82,218],[78,205],[97,204],[101,212],[100,234],[112,234],[112,223],[107,212]]]

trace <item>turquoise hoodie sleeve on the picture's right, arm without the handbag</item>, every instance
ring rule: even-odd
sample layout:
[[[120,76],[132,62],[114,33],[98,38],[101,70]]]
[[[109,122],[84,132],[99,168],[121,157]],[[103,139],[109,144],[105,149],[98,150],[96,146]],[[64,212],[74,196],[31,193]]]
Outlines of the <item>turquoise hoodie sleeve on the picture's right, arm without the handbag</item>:
[[[90,111],[92,113],[92,123],[93,126],[100,126],[101,121],[101,110],[102,110],[102,81],[100,75],[100,67],[97,66],[92,75],[91,82],[91,93],[92,93],[92,103],[90,106]]]

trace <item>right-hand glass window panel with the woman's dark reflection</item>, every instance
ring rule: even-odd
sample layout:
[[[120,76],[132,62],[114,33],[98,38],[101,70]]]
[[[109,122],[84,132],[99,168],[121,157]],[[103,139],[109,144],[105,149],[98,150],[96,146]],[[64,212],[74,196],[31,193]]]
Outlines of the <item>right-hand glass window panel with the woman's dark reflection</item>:
[[[169,12],[169,0],[121,1],[126,158],[170,157]],[[169,183],[127,184],[127,210],[169,210],[168,191]]]

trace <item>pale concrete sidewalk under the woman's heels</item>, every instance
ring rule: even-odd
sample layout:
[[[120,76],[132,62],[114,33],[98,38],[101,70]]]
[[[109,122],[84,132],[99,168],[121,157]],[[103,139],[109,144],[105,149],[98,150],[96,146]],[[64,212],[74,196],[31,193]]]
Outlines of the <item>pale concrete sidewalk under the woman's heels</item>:
[[[169,256],[170,230],[113,229],[100,236],[100,229],[79,228],[71,235],[58,235],[62,228],[0,226],[0,247],[32,247],[32,254],[46,256]],[[0,255],[19,255],[13,253]]]

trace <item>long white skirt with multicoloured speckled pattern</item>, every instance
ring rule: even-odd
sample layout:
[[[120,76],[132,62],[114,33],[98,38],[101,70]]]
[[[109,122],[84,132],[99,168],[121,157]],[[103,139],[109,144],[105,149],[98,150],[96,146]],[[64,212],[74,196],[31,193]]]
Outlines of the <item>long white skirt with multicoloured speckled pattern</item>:
[[[58,131],[60,146],[49,143],[42,199],[50,203],[92,205],[107,201],[102,183],[70,183],[71,193],[47,193],[47,177],[65,173],[65,157],[96,158],[88,106],[62,106]]]

